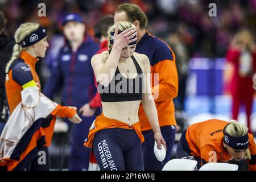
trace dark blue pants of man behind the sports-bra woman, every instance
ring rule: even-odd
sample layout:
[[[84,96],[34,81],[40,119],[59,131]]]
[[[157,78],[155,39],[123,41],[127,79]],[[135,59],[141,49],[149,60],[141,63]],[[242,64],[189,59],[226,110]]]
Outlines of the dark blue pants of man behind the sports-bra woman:
[[[171,160],[172,147],[175,143],[175,126],[163,126],[160,127],[160,130],[164,140],[166,141],[167,147],[166,158],[164,158],[163,162],[159,162],[155,157],[155,139],[153,130],[142,132],[145,138],[142,144],[145,171],[161,171],[164,164]]]

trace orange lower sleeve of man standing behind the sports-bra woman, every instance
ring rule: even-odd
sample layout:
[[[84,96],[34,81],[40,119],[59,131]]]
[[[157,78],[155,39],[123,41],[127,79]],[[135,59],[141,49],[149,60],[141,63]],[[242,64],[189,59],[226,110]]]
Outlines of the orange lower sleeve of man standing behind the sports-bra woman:
[[[153,67],[154,73],[158,73],[159,83],[152,87],[152,95],[158,92],[158,98],[155,102],[162,102],[170,98],[177,97],[178,93],[178,75],[174,60],[159,61]],[[154,80],[152,80],[154,82]]]

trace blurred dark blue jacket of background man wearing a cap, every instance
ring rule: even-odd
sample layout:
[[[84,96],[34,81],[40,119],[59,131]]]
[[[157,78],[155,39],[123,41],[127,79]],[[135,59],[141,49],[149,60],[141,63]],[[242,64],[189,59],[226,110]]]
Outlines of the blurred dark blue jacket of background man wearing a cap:
[[[97,92],[90,60],[98,49],[98,44],[94,43],[89,35],[85,36],[84,42],[76,52],[65,43],[53,63],[51,77],[44,86],[43,93],[52,98],[56,91],[61,89],[63,105],[80,108],[88,103]]]

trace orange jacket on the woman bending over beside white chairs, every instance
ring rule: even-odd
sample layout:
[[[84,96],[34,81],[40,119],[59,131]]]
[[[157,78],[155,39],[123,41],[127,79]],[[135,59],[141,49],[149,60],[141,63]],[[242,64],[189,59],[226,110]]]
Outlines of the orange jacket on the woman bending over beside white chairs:
[[[216,162],[228,162],[232,158],[223,147],[223,129],[228,123],[219,119],[210,119],[188,127],[185,138],[191,155],[201,158],[202,165],[213,162],[212,151],[216,152]],[[256,170],[256,145],[251,134],[249,134],[249,150],[251,152],[251,160],[248,161],[249,170]]]

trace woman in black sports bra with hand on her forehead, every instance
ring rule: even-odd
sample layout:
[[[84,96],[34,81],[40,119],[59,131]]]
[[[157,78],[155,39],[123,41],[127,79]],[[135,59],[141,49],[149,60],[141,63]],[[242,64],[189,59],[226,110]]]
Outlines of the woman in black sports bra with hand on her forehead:
[[[101,170],[143,170],[141,101],[158,148],[161,144],[166,148],[147,79],[150,62],[146,55],[134,52],[137,32],[130,22],[115,23],[108,35],[109,51],[92,57],[102,114],[90,127],[84,145],[93,148]]]

